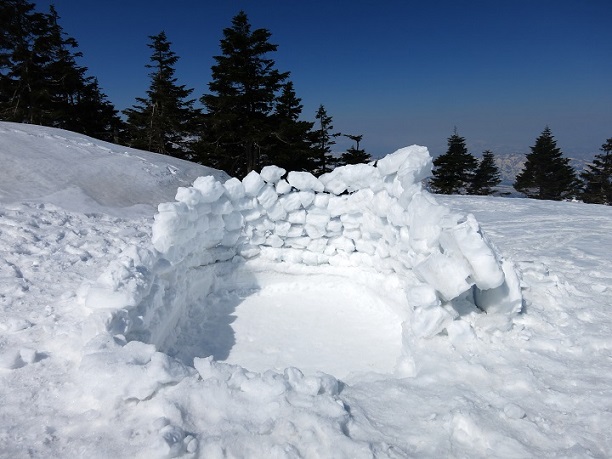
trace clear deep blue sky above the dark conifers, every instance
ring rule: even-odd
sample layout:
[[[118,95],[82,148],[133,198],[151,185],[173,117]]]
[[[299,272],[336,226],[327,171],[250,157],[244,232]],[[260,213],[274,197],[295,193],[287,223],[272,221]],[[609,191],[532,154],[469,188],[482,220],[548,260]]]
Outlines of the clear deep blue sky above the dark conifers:
[[[314,121],[363,134],[382,156],[410,144],[446,151],[456,126],[471,153],[528,153],[548,125],[566,155],[612,137],[610,0],[33,0],[54,3],[82,65],[115,106],[148,88],[148,36],[180,57],[179,84],[208,91],[222,30],[244,10]]]

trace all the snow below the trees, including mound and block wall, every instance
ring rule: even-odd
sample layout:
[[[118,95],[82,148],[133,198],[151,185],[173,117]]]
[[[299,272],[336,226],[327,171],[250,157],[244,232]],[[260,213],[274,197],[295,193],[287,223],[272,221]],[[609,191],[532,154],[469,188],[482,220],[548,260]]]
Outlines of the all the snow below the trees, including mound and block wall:
[[[612,455],[610,207],[434,197],[420,147],[228,181],[0,123],[0,157],[3,457]]]

